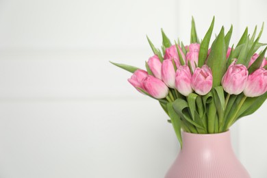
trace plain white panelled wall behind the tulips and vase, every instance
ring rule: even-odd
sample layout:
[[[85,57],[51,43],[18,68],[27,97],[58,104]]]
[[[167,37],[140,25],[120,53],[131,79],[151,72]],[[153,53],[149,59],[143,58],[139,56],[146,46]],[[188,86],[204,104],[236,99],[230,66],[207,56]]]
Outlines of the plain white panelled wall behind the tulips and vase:
[[[267,1],[0,0],[0,177],[164,177],[179,144],[160,105],[108,61],[144,67],[160,47],[233,24],[236,43]],[[267,42],[267,31],[262,35]],[[266,110],[232,129],[251,177],[267,177]]]

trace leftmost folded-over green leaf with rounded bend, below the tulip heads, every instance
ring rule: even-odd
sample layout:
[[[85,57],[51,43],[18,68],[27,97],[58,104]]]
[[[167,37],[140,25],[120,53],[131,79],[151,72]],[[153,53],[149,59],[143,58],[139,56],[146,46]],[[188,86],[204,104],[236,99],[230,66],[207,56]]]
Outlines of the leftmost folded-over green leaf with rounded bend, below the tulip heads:
[[[205,129],[188,116],[188,107],[188,103],[183,99],[176,99],[173,102],[173,109],[177,114],[179,114],[179,116],[181,116],[181,118],[185,119],[188,123],[194,125],[195,127],[199,127],[199,129]]]

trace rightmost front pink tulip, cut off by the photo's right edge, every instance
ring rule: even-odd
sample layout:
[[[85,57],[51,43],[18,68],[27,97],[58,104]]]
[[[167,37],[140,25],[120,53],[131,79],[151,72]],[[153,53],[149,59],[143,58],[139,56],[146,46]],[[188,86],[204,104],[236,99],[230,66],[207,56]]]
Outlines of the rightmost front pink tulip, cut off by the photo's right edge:
[[[246,97],[259,97],[267,90],[267,71],[265,68],[259,68],[249,75],[244,88]]]

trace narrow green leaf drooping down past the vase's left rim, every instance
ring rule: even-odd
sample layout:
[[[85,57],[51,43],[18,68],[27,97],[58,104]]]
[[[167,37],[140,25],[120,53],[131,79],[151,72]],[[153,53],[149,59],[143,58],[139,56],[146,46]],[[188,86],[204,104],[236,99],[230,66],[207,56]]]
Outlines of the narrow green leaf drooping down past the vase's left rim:
[[[170,114],[170,120],[171,120],[171,123],[173,124],[173,129],[175,129],[176,136],[180,142],[181,149],[182,149],[183,141],[181,138],[181,119],[178,116],[178,114],[176,114],[175,110],[173,110],[173,103],[167,104],[167,110],[168,110],[168,113]]]

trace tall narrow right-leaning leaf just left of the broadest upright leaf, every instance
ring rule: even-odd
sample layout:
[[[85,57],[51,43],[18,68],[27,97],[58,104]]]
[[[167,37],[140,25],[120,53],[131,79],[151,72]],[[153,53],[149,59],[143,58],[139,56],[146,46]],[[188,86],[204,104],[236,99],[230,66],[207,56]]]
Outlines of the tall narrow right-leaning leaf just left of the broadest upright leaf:
[[[199,64],[198,66],[201,68],[205,64],[205,60],[207,59],[207,51],[209,50],[209,41],[212,37],[212,30],[214,27],[214,17],[212,18],[212,24],[209,26],[207,33],[205,34],[203,41],[200,44],[199,49]]]

